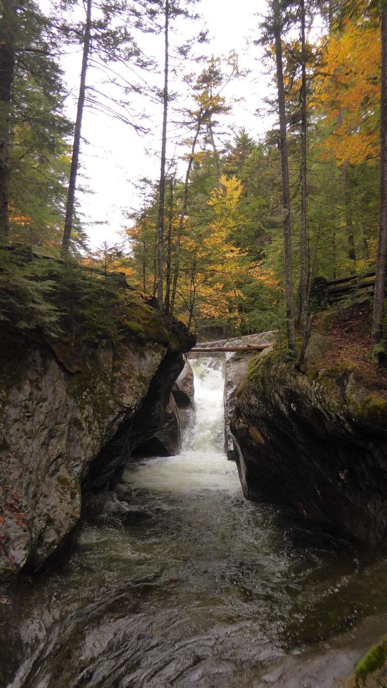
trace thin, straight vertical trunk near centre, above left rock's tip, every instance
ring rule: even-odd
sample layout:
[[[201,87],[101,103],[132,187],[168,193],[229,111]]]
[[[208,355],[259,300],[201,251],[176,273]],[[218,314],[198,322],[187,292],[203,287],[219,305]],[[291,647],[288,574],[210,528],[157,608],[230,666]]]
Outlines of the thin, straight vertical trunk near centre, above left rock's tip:
[[[157,301],[160,311],[163,310],[164,281],[164,200],[165,200],[165,159],[167,151],[167,115],[168,115],[168,41],[169,41],[169,0],[165,0],[165,62],[163,91],[163,133],[161,136],[161,166],[158,200],[158,260],[157,260]]]

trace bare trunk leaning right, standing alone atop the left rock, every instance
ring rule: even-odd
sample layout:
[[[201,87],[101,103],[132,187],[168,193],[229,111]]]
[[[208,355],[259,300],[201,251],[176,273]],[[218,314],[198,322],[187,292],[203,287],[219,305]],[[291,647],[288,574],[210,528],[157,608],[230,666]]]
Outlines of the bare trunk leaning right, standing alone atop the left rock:
[[[90,53],[91,28],[92,28],[92,0],[87,0],[85,36],[83,37],[83,57],[82,57],[82,67],[81,67],[81,83],[79,85],[78,106],[76,109],[74,144],[72,147],[70,180],[69,180],[69,188],[67,191],[65,229],[63,231],[63,240],[62,240],[62,249],[61,249],[61,255],[62,256],[66,256],[70,250],[70,238],[71,238],[71,233],[72,233],[72,222],[74,219],[76,175],[78,174],[78,168],[79,168],[79,149],[81,148],[82,116],[83,116],[83,106],[85,105],[86,72],[87,72],[87,60],[89,58],[89,53]]]

